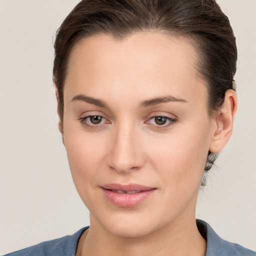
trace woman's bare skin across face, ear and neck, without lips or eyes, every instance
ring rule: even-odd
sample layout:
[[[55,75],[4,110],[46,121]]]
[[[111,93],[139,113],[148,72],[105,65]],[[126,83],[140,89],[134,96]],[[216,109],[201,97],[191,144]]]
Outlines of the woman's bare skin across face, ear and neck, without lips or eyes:
[[[59,122],[76,189],[90,211],[90,228],[76,255],[205,255],[195,204],[208,150],[227,143],[236,96],[207,112],[207,83],[197,73],[197,52],[188,40],[153,31],[123,40],[100,34],[72,49]],[[76,95],[100,99],[95,105]],[[172,96],[148,106],[141,102]],[[95,126],[89,115],[102,116]],[[163,125],[155,116],[171,118]],[[173,121],[174,119],[175,121]],[[110,203],[106,183],[155,187],[129,208]]]

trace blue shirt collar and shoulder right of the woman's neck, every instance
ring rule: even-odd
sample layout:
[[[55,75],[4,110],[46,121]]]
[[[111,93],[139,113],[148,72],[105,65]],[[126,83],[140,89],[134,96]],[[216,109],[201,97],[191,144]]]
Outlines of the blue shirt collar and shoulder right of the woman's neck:
[[[207,241],[205,256],[256,256],[256,252],[219,237],[205,221],[196,219],[196,224],[199,232]]]

